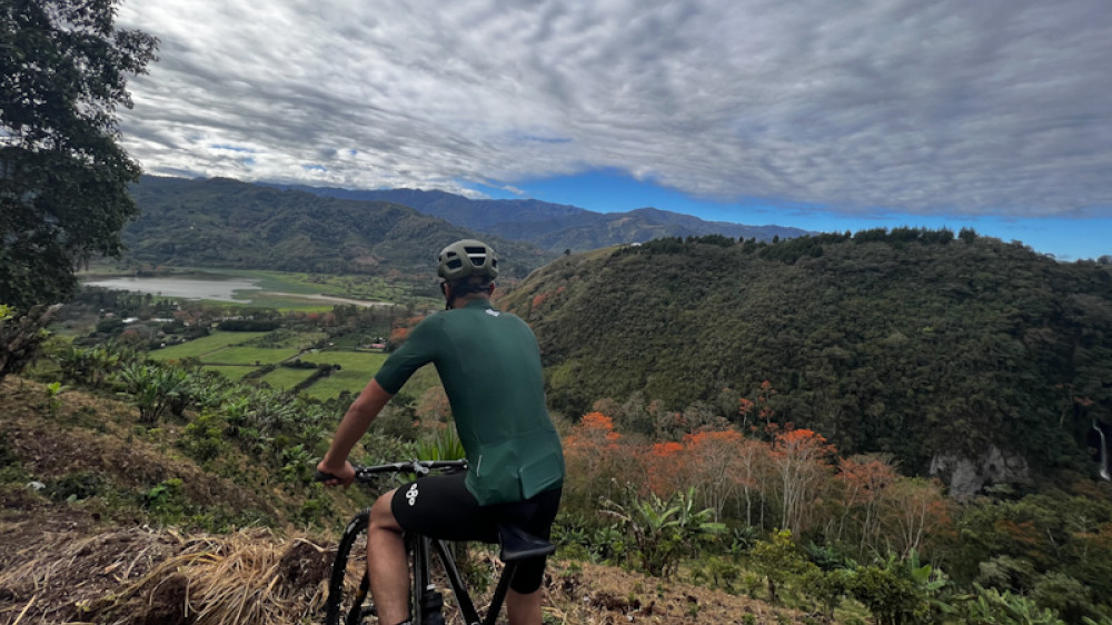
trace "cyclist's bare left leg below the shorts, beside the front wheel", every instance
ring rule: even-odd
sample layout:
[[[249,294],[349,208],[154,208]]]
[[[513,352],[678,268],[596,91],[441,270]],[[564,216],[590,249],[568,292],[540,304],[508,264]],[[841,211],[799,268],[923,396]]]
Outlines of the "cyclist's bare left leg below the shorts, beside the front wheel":
[[[370,593],[384,625],[404,623],[409,618],[409,563],[401,527],[394,518],[390,502],[394,490],[380,496],[370,508],[367,530],[367,573]]]

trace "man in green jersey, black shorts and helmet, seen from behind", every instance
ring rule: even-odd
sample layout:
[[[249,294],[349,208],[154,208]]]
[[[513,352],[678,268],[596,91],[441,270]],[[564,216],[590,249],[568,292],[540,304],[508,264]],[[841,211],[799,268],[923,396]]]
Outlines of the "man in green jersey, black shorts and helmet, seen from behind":
[[[371,506],[367,567],[379,622],[405,625],[409,576],[403,532],[447,540],[497,542],[499,523],[548,538],[559,506],[564,455],[545,404],[533,330],[490,304],[498,259],[481,241],[440,251],[446,311],[424,319],[344,415],[318,469],[351,484],[356,442],[421,366],[436,366],[467,454],[466,474],[430,476],[386,493]],[[539,625],[545,558],[518,569],[506,597],[513,625]]]

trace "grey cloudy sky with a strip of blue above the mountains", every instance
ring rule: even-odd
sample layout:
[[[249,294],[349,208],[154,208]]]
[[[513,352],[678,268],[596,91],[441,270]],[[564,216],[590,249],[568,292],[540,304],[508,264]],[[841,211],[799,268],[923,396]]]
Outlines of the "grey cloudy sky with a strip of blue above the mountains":
[[[123,0],[147,171],[1112,254],[1108,0]]]

